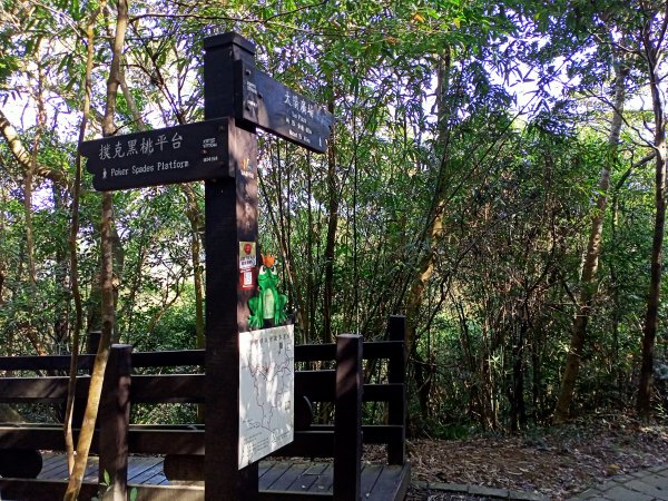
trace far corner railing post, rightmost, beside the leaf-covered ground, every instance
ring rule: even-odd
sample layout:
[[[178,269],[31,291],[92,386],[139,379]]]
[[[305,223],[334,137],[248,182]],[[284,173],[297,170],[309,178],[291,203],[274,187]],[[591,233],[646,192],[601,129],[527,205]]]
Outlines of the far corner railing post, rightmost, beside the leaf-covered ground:
[[[387,405],[387,424],[402,426],[401,441],[391,441],[387,444],[387,460],[390,464],[404,464],[406,462],[406,317],[392,315],[387,322],[387,337],[390,341],[401,342],[401,348],[393,353],[387,367],[387,382],[403,384],[401,399],[392,400]]]

